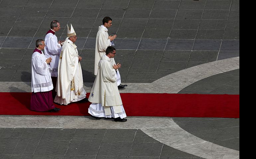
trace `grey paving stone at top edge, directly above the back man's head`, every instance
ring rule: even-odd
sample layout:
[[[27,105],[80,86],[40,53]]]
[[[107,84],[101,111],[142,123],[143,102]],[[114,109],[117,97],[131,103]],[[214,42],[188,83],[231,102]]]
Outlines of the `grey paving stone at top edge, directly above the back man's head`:
[[[102,8],[108,8],[108,9],[126,9],[128,6],[130,0],[106,0],[105,3],[103,3]]]

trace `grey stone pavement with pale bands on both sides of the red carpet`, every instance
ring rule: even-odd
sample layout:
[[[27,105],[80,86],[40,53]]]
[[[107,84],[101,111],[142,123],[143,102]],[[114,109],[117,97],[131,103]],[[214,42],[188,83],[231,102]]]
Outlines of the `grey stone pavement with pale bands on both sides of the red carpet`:
[[[117,34],[115,60],[128,84],[120,93],[239,94],[239,0],[0,0],[1,91],[31,91],[35,41],[56,19],[58,38],[65,38],[66,24],[76,31],[90,92],[95,36],[105,16],[113,19],[108,32]],[[239,119],[0,119],[1,159],[239,158]]]

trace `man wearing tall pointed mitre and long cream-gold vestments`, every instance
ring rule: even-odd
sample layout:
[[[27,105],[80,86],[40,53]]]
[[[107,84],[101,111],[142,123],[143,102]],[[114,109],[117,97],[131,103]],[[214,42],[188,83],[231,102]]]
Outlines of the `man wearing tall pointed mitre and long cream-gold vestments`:
[[[71,102],[87,102],[83,88],[83,75],[80,65],[82,57],[78,55],[74,44],[77,36],[73,26],[67,25],[67,38],[62,46],[58,66],[57,95],[54,102],[67,105]]]

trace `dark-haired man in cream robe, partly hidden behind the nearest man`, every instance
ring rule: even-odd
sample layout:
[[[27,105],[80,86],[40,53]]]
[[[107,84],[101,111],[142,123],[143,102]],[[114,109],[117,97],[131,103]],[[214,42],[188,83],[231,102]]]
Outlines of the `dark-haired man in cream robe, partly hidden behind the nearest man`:
[[[113,40],[116,38],[116,35],[109,36],[108,29],[112,26],[112,19],[110,17],[104,17],[102,20],[101,26],[99,26],[99,30],[96,36],[96,44],[95,44],[95,57],[94,57],[94,75],[97,75],[98,72],[98,64],[99,60],[103,55],[106,54],[106,49],[108,46],[114,45]],[[111,59],[111,63],[116,64],[114,58]],[[118,89],[124,89],[127,85],[121,84],[121,77],[119,71],[117,70],[117,85]]]

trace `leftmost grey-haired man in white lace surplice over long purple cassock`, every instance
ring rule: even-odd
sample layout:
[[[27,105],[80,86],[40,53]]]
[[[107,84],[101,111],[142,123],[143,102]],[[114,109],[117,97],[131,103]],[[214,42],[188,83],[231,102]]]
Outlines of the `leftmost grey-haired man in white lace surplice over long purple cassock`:
[[[31,58],[31,87],[32,95],[30,109],[39,112],[58,112],[60,108],[56,108],[53,104],[52,89],[53,82],[49,72],[52,58],[46,58],[43,49],[45,42],[43,39],[37,39],[36,49]]]

